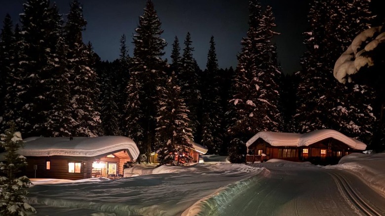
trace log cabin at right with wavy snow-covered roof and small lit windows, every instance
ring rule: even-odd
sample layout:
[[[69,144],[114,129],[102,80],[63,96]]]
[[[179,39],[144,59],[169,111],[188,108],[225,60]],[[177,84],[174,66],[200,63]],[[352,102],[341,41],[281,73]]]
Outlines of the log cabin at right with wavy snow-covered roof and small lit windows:
[[[262,131],[247,141],[246,146],[247,162],[278,158],[314,164],[336,164],[341,157],[366,149],[366,144],[330,129],[307,134]]]

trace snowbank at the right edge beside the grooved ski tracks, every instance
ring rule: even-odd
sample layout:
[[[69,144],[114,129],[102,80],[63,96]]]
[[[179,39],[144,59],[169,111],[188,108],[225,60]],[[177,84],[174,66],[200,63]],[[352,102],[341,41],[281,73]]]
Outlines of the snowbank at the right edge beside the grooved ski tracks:
[[[352,153],[341,158],[337,165],[326,168],[338,168],[353,172],[366,181],[375,190],[385,195],[385,153]]]

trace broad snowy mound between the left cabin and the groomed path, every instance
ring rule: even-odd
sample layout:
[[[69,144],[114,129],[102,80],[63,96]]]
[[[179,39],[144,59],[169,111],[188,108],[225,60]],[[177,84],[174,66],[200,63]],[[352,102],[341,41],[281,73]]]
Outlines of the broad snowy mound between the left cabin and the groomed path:
[[[127,173],[137,173],[133,178],[95,178],[68,183],[58,180],[56,184],[55,180],[46,180],[47,183],[34,180],[40,184],[29,188],[28,201],[44,210],[38,216],[44,216],[46,212],[55,212],[60,216],[58,211],[62,215],[65,215],[64,211],[82,215],[81,212],[85,210],[93,210],[92,214],[101,215],[175,216],[181,215],[194,204],[193,211],[199,212],[199,208],[204,206],[198,205],[198,201],[204,197],[214,199],[207,201],[210,203],[226,202],[231,198],[226,194],[231,194],[231,190],[235,191],[236,188],[247,187],[249,181],[254,180],[252,177],[264,170],[245,164],[227,163],[157,168],[154,165],[139,165],[125,169]]]

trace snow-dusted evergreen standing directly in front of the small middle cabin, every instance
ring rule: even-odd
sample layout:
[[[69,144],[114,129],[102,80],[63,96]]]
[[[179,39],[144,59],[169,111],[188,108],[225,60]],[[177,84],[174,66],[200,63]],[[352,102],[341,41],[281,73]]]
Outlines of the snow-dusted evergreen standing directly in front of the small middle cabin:
[[[156,115],[156,153],[159,164],[191,162],[192,129],[189,127],[189,110],[181,97],[181,88],[172,72],[164,86],[158,87],[159,108]],[[176,161],[176,162],[175,162]]]

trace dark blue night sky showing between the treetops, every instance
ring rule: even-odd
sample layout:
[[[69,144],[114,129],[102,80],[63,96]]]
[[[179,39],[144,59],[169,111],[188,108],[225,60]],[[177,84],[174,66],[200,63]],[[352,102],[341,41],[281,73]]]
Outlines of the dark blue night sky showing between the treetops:
[[[60,13],[66,14],[72,0],[56,0]],[[79,0],[88,25],[83,33],[84,42],[91,41],[102,60],[113,61],[119,55],[119,39],[125,34],[132,56],[132,34],[143,14],[146,0]],[[0,19],[6,13],[14,24],[19,20],[25,0],[0,0]],[[51,0],[51,2],[54,2]],[[278,58],[285,73],[300,69],[300,57],[305,51],[302,33],[307,25],[307,0],[261,0],[270,4],[276,18],[275,37]],[[174,37],[178,36],[181,48],[187,32],[191,33],[193,53],[199,67],[204,70],[207,62],[210,37],[216,42],[220,68],[236,67],[236,55],[240,41],[246,36],[248,0],[154,0],[154,6],[162,23],[163,38],[168,42],[165,58],[169,58]],[[2,27],[2,25],[1,25]],[[181,51],[183,52],[183,51]]]

